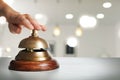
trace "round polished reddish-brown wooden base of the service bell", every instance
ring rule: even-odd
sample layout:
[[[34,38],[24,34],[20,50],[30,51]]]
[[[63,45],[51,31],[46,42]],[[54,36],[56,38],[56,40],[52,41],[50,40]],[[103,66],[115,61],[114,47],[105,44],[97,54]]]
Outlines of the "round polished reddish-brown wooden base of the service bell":
[[[16,61],[12,60],[10,70],[15,71],[48,71],[58,68],[58,63],[51,59],[46,61]]]

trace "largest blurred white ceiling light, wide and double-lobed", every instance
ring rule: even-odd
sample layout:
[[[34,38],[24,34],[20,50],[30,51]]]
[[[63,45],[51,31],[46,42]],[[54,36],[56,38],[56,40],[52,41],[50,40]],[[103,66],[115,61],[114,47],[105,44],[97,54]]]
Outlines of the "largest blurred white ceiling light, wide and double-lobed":
[[[80,17],[79,24],[83,28],[94,28],[97,24],[97,20],[92,16],[82,16]]]

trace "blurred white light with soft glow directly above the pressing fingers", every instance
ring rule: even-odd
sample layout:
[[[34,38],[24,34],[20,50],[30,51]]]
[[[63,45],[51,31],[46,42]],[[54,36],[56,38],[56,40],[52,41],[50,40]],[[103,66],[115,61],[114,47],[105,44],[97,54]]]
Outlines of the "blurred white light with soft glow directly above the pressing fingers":
[[[48,21],[48,18],[46,15],[43,15],[43,14],[36,14],[35,15],[35,19],[40,23],[40,24],[43,24],[43,25],[46,25],[47,24],[47,21]]]

